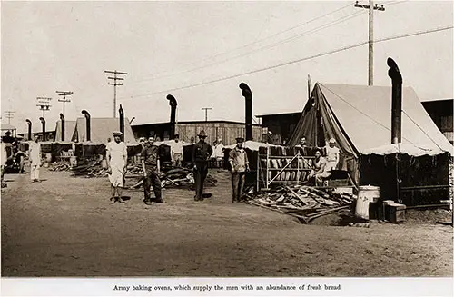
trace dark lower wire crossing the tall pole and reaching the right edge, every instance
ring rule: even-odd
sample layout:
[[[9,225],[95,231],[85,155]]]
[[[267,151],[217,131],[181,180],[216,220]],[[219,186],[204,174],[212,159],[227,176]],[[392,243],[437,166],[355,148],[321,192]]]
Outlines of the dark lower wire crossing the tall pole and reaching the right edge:
[[[376,40],[375,42],[378,43],[378,42],[388,41],[388,40],[391,40],[391,39],[400,39],[400,38],[404,38],[404,37],[408,37],[408,36],[412,36],[412,35],[424,35],[424,34],[434,33],[434,32],[438,32],[438,31],[442,31],[442,30],[448,30],[448,29],[452,29],[452,28],[453,28],[453,26],[447,26],[447,27],[443,27],[443,28],[426,30],[426,31],[423,31],[423,32],[410,33],[410,34],[405,34],[405,35],[396,35],[396,36],[381,38],[381,39]],[[329,54],[336,54],[336,53],[339,53],[339,52],[342,52],[342,51],[350,50],[350,49],[355,48],[355,47],[359,47],[360,45],[367,45],[368,43],[369,42],[365,41],[365,42],[361,42],[361,43],[356,44],[356,45],[344,46],[344,47],[341,47],[341,48],[338,48],[338,49],[335,49],[335,50],[331,50],[329,52],[325,52],[325,53],[321,53],[321,54],[314,54],[314,55],[307,56],[307,57],[304,57],[304,58],[301,58],[301,59],[292,60],[290,62],[276,64],[276,65],[264,67],[264,68],[257,69],[257,70],[252,70],[252,71],[245,72],[245,73],[242,73],[242,74],[234,74],[234,75],[230,75],[230,76],[224,76],[222,78],[213,79],[211,81],[202,82],[202,83],[199,83],[199,84],[190,84],[190,85],[186,85],[186,86],[182,86],[182,87],[176,87],[176,88],[173,88],[173,89],[167,89],[165,91],[152,92],[152,93],[148,93],[148,94],[139,94],[139,95],[135,95],[133,97],[139,98],[139,97],[144,97],[144,96],[153,95],[153,94],[163,94],[163,93],[179,91],[179,90],[183,90],[183,89],[189,89],[189,88],[196,87],[196,86],[201,86],[201,85],[204,85],[204,84],[218,83],[218,82],[221,82],[221,81],[229,80],[229,79],[240,77],[240,76],[243,76],[243,75],[260,73],[260,72],[263,72],[263,71],[271,70],[271,69],[274,69],[274,68],[279,68],[279,67],[286,66],[286,65],[289,65],[289,64],[295,64],[295,63],[300,63],[300,62],[303,62],[303,61],[311,60],[311,59],[318,58],[318,57],[321,57],[321,56],[325,56],[325,55],[329,55]],[[128,99],[128,98],[124,98],[124,99]]]

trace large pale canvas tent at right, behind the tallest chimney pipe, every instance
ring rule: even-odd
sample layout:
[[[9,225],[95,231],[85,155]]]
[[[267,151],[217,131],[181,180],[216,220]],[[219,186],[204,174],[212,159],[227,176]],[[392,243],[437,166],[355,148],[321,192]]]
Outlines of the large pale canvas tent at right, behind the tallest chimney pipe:
[[[305,136],[309,145],[323,146],[333,137],[342,153],[341,168],[359,182],[360,154],[392,152],[384,148],[390,144],[390,127],[391,87],[317,83],[288,145]],[[401,135],[406,153],[434,155],[453,149],[410,87],[402,88]]]

